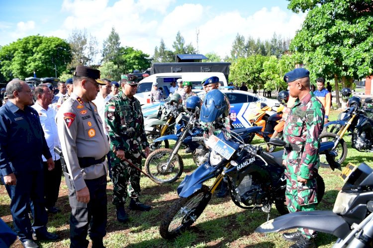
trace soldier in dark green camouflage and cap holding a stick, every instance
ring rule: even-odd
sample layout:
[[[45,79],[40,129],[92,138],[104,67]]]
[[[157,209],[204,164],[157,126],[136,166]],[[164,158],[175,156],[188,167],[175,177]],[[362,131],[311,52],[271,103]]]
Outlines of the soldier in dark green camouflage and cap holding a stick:
[[[111,174],[114,184],[113,204],[116,207],[117,220],[121,223],[128,221],[128,215],[124,210],[127,196],[131,198],[130,209],[140,211],[151,209],[151,206],[142,204],[138,199],[140,172],[123,161],[126,158],[141,168],[142,149],[145,150],[146,157],[150,152],[141,105],[134,97],[137,85],[137,82],[122,79],[122,91],[105,105],[105,121],[110,139]]]

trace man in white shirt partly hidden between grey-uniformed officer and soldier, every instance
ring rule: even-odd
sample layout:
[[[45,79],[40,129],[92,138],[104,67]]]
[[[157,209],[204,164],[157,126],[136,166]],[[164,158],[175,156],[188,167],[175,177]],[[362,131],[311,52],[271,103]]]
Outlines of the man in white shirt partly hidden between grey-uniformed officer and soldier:
[[[112,95],[110,95],[112,84],[111,84],[111,81],[108,79],[103,79],[103,82],[105,82],[105,85],[99,85],[100,91],[98,92],[96,99],[94,99],[92,102],[96,104],[97,106],[97,112],[102,120],[103,132],[107,136],[107,142],[109,142],[109,138],[108,138],[109,136],[107,134],[106,122],[105,122],[105,105],[106,105],[106,102],[108,102],[112,97]],[[106,157],[107,157],[107,167],[109,171],[108,174],[109,174],[109,177],[111,178],[110,152],[106,155]]]

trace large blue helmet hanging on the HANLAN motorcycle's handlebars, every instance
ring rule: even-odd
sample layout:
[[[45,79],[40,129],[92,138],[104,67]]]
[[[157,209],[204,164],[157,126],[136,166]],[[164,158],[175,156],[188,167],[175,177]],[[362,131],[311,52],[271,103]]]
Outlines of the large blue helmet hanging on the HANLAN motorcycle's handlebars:
[[[200,122],[218,122],[221,118],[229,116],[230,105],[228,97],[218,89],[207,92],[199,113]]]

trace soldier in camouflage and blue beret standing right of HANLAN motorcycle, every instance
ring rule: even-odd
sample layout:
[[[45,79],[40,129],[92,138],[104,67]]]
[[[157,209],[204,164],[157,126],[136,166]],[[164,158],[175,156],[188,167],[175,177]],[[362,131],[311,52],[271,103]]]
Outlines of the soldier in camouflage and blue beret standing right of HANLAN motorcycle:
[[[325,111],[310,89],[306,69],[297,68],[286,73],[283,79],[289,86],[290,95],[297,98],[283,129],[286,205],[289,212],[313,211],[317,203],[319,135],[324,126]],[[316,247],[314,230],[299,229],[282,236],[285,240],[296,241],[290,248]]]

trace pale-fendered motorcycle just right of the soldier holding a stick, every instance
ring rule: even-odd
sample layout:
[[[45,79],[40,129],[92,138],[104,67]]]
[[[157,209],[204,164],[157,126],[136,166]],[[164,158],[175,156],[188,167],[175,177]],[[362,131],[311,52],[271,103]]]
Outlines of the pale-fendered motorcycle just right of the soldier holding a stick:
[[[159,107],[156,114],[150,115],[144,119],[146,138],[149,142],[151,151],[161,148],[169,148],[168,140],[163,142],[154,142],[155,139],[169,135],[175,127],[175,120],[183,111],[182,97],[180,94],[173,94],[169,101]]]

